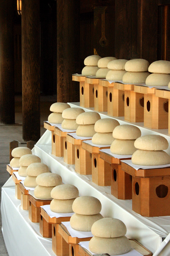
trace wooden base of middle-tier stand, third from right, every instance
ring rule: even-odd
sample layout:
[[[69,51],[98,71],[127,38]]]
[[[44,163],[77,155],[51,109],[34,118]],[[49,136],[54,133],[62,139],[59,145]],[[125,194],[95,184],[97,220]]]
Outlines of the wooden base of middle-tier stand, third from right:
[[[92,181],[99,186],[111,186],[111,165],[92,153]]]

